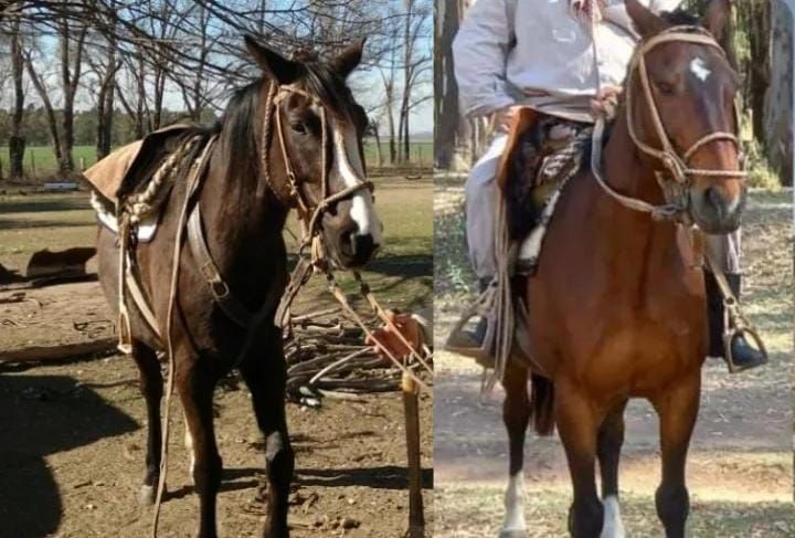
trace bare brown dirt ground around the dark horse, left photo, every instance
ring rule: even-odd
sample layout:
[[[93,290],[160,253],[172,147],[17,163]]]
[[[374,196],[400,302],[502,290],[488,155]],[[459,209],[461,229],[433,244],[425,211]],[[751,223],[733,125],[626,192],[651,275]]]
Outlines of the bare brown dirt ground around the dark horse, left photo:
[[[369,278],[388,306],[427,304],[430,182],[395,180],[379,192],[386,238],[391,233],[396,241],[382,252]],[[7,266],[21,267],[32,251],[43,246],[93,241],[93,217],[77,197],[6,201],[3,207],[0,196],[0,262]],[[423,201],[425,207],[418,207]],[[409,211],[415,211],[416,218],[406,220]],[[0,292],[0,298],[9,294]],[[96,283],[25,294],[20,303],[0,304],[0,349],[113,335]],[[319,288],[310,288],[301,304],[317,308],[319,294]],[[216,390],[215,404],[224,461],[220,535],[259,536],[266,508],[261,490],[264,453],[245,384],[229,378]],[[287,409],[296,449],[290,497],[294,536],[400,536],[409,513],[400,393],[362,394],[356,401],[327,399],[320,409],[297,404]],[[193,536],[198,521],[181,414],[174,401],[162,537]],[[421,416],[426,519],[433,528],[428,394],[422,397]],[[145,408],[131,359],[0,363],[0,537],[149,534],[151,510],[137,500],[144,475]]]

